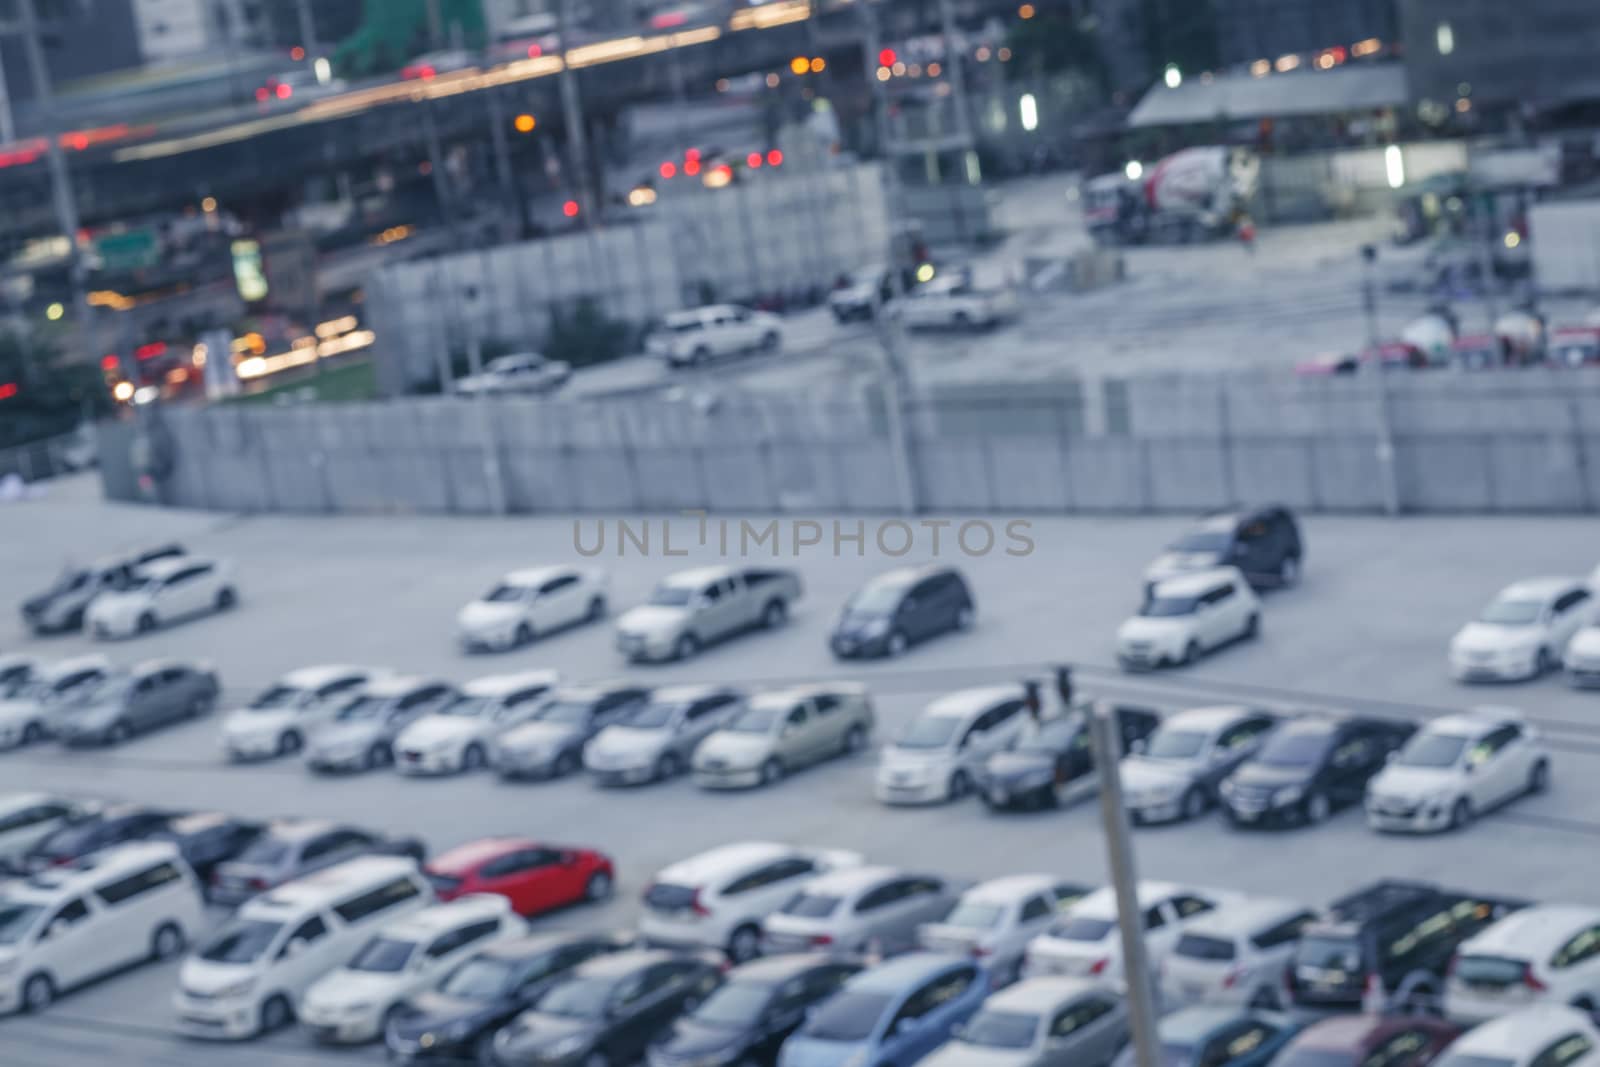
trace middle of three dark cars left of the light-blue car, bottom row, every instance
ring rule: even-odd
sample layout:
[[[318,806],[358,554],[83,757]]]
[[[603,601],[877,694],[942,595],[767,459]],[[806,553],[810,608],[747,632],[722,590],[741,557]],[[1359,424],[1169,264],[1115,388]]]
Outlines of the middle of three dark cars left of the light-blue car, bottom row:
[[[653,949],[581,963],[494,1037],[501,1067],[634,1064],[722,982],[709,960]]]

